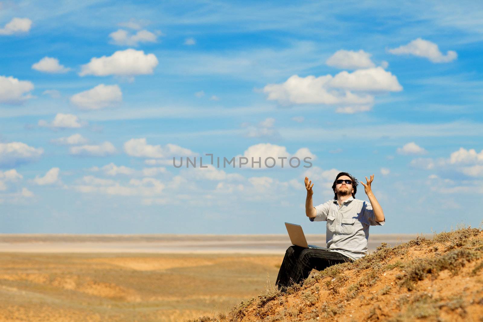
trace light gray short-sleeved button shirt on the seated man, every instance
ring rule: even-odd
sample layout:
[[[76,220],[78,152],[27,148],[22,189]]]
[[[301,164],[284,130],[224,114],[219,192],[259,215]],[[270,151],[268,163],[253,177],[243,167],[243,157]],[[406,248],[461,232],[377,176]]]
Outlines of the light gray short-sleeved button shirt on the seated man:
[[[385,220],[376,222],[369,202],[352,196],[341,207],[337,199],[333,199],[314,208],[317,215],[309,218],[310,221],[327,221],[327,248],[354,260],[367,253],[369,225],[382,226],[385,223]]]

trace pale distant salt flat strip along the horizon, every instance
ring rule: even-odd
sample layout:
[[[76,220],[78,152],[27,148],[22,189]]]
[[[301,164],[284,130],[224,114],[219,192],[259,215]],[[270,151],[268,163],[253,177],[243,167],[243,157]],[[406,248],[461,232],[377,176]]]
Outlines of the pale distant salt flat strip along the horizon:
[[[373,234],[369,252],[382,242],[391,246],[413,234]],[[325,235],[306,235],[309,244],[326,246]],[[35,253],[257,253],[282,254],[288,235],[19,235],[0,234],[0,252]]]

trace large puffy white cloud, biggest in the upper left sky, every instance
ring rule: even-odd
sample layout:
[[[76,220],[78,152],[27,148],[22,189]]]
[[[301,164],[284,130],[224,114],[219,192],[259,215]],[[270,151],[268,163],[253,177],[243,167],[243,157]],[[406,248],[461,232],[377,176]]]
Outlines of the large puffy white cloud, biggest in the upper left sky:
[[[142,50],[126,49],[116,51],[112,56],[93,57],[81,66],[80,76],[119,75],[134,76],[152,74],[158,61],[154,54],[145,55]]]

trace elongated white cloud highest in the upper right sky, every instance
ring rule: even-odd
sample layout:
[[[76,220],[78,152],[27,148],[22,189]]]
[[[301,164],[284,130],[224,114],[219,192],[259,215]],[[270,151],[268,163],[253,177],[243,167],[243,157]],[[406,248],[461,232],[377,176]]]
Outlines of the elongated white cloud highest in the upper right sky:
[[[433,63],[449,63],[455,60],[458,56],[453,50],[448,50],[446,55],[443,55],[436,43],[421,38],[417,38],[406,45],[399,46],[398,48],[389,49],[388,51],[395,55],[425,57]]]

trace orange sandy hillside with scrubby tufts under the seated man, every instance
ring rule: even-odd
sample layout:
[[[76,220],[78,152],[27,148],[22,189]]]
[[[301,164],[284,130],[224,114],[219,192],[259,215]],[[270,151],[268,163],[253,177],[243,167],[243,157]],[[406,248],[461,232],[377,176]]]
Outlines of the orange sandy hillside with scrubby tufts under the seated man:
[[[483,321],[483,231],[423,236],[273,285],[210,321]]]

